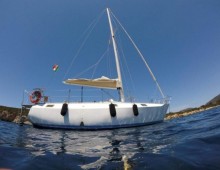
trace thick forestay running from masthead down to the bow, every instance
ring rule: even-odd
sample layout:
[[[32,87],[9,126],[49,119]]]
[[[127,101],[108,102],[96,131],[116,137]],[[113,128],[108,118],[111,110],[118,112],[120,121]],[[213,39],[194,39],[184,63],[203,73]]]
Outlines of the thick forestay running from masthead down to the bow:
[[[137,50],[138,54],[140,55],[141,59],[143,60],[143,62],[145,63],[148,71],[150,72],[151,77],[153,78],[154,82],[156,83],[161,95],[163,98],[165,98],[165,95],[163,94],[163,91],[159,85],[159,83],[157,82],[156,77],[154,76],[152,70],[150,69],[149,65],[147,64],[147,61],[145,60],[144,56],[142,55],[142,53],[140,52],[139,48],[137,47],[137,45],[135,44],[135,42],[133,41],[133,39],[131,38],[131,36],[128,34],[128,32],[125,30],[125,28],[122,26],[122,24],[120,23],[120,21],[116,18],[116,16],[111,12],[112,16],[115,18],[115,20],[118,22],[118,24],[121,26],[122,30],[125,32],[125,34],[128,36],[129,40],[131,41],[131,43],[134,45],[135,49]]]

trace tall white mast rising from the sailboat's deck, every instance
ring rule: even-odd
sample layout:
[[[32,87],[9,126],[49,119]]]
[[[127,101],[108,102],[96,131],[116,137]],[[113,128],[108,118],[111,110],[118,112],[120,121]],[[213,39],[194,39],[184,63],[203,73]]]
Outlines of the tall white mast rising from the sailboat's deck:
[[[117,51],[117,45],[116,45],[116,42],[115,42],[115,35],[114,35],[113,27],[112,27],[112,21],[111,21],[109,8],[107,8],[107,15],[108,15],[108,21],[109,21],[111,36],[112,36],[112,43],[113,43],[114,54],[115,54],[115,62],[116,62],[116,68],[117,68],[117,73],[118,73],[118,81],[120,83],[120,87],[118,88],[119,95],[120,95],[120,101],[124,102],[125,97],[124,97],[124,90],[123,90],[123,85],[122,85],[120,64],[119,64],[119,59],[118,59],[118,51]]]

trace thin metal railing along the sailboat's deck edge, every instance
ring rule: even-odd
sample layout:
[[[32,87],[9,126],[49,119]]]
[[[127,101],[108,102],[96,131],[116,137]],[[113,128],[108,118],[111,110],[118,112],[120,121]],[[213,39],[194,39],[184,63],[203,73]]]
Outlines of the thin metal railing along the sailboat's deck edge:
[[[98,89],[86,89],[86,90],[44,90],[44,89],[34,89],[41,91],[41,98],[37,102],[37,104],[44,104],[47,102],[104,102],[109,101],[110,99],[114,101],[118,101],[118,94],[115,92],[114,95],[110,95],[108,92],[104,90]],[[22,106],[31,107],[36,103],[32,103],[30,101],[30,96],[33,94],[34,90],[24,90]],[[86,94],[86,95],[85,95]],[[160,99],[151,99],[150,103],[166,103],[169,104],[171,97],[160,98]],[[127,96],[126,101],[128,102],[138,102],[134,97]]]

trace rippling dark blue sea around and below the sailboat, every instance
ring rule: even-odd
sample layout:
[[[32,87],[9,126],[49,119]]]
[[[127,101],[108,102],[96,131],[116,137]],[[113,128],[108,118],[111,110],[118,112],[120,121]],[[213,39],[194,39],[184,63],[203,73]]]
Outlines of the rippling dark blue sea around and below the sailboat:
[[[220,169],[220,107],[155,125],[102,131],[0,121],[2,169]]]

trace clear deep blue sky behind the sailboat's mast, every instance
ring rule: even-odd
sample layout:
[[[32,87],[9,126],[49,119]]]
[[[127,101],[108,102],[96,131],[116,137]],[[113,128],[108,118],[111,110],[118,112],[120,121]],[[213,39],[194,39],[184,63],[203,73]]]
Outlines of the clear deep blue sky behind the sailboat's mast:
[[[219,0],[0,0],[0,105],[20,107],[24,90],[36,87],[55,93],[79,90],[62,81],[76,77],[105,54],[110,37],[103,14],[107,7],[143,53],[163,92],[171,96],[169,111],[198,107],[220,93]],[[85,30],[100,15],[97,28],[78,53]],[[121,47],[128,48],[121,54],[132,67],[123,74],[133,80],[123,82],[127,93],[135,92],[137,101],[158,97],[131,45],[120,43]],[[109,60],[108,55],[103,58]],[[59,65],[57,72],[52,70],[54,64]],[[104,65],[83,78],[89,73],[91,78],[109,71]],[[114,74],[108,76],[115,78]],[[127,90],[129,86],[133,90]]]

